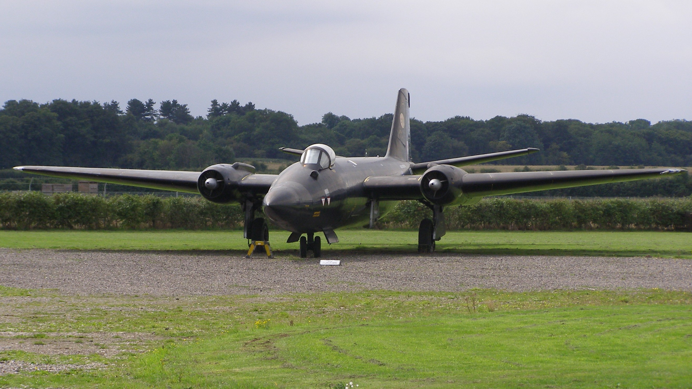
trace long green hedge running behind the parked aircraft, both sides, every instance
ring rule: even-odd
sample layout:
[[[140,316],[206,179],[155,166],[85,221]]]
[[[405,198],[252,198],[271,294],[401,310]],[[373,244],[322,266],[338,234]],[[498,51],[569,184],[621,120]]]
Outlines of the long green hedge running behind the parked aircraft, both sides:
[[[415,229],[432,212],[403,201],[378,222],[381,228]],[[692,199],[484,199],[445,209],[449,230],[636,229],[692,230]],[[76,193],[0,193],[0,228],[241,228],[239,206],[201,197],[113,197]]]

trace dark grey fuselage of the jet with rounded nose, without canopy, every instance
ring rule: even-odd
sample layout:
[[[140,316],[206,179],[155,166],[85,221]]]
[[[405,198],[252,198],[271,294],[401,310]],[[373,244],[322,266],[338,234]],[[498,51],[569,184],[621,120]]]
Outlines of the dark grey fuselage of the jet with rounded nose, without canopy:
[[[389,157],[336,157],[331,168],[300,162],[286,168],[264,197],[264,213],[277,226],[293,233],[316,233],[370,221],[371,196],[367,177],[410,174],[409,162]],[[311,173],[317,171],[317,178]],[[314,173],[313,173],[314,175]],[[379,202],[385,215],[398,201]]]

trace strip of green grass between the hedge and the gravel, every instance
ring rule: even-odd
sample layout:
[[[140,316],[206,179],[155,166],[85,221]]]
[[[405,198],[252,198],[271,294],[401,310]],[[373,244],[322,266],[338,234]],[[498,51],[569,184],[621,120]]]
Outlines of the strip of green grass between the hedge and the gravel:
[[[338,230],[340,242],[322,251],[417,250],[416,231]],[[289,233],[272,231],[277,253],[295,254],[298,244],[286,244]],[[438,252],[516,255],[653,255],[692,258],[692,235],[656,231],[453,231],[437,244]],[[0,230],[0,247],[103,250],[220,250],[246,251],[238,230],[84,231]]]

